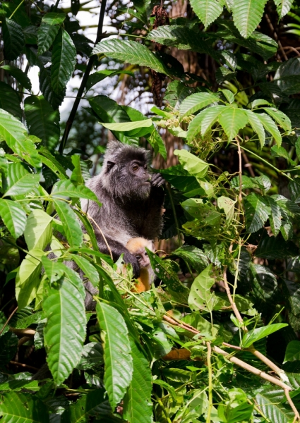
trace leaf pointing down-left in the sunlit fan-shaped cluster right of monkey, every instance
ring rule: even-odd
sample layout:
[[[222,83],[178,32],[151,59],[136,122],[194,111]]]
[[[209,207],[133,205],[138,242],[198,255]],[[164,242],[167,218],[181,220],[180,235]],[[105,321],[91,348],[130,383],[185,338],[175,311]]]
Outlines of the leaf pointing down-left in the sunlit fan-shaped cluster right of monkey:
[[[198,133],[205,135],[206,131],[217,121],[224,107],[226,106],[214,106],[200,111],[200,114],[193,118],[193,121],[188,125],[187,140],[193,141]]]

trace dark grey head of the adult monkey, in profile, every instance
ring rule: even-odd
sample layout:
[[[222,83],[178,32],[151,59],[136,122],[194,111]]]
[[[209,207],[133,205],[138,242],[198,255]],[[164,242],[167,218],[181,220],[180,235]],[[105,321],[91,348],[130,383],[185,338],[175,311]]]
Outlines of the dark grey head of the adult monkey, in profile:
[[[143,148],[109,142],[104,155],[102,184],[114,197],[136,200],[150,194],[150,157]]]

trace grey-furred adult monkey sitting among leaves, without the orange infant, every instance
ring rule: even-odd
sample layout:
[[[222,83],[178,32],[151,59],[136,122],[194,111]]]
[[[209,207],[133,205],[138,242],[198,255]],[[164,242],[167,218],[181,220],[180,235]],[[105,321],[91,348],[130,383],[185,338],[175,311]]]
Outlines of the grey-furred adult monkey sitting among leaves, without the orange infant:
[[[81,203],[83,210],[88,211],[100,226],[114,260],[124,253],[124,261],[132,264],[136,277],[139,276],[140,266],[136,256],[126,248],[128,240],[136,237],[154,240],[162,233],[164,179],[160,173],[151,175],[148,168],[143,167],[149,164],[149,160],[149,154],[143,148],[124,145],[119,141],[110,142],[101,173],[86,184],[95,192],[102,207],[88,200]],[[132,166],[136,163],[140,167],[134,173]],[[100,231],[93,226],[100,251],[109,254]],[[86,287],[95,293],[90,283]]]

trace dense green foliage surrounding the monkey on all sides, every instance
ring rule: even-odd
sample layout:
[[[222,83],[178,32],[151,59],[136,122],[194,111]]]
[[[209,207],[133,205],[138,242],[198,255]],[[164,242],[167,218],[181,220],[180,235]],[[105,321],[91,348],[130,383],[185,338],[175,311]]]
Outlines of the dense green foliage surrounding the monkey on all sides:
[[[186,16],[172,19],[148,0],[127,8],[102,0],[95,45],[75,18],[82,6],[0,6],[1,421],[299,421],[296,4],[291,12],[291,0],[190,0]],[[112,10],[126,23],[105,39]],[[214,63],[211,78],[184,71],[175,56],[187,52]],[[98,70],[107,58],[114,68]],[[31,92],[32,66],[40,95]],[[61,136],[59,106],[74,72],[81,85]],[[163,106],[144,116],[94,95],[116,75],[133,78],[133,89],[142,75],[145,91],[152,80]],[[97,201],[85,187],[88,156],[104,151],[68,148],[83,95],[102,134],[164,159],[161,134],[183,140],[179,164],[161,171],[162,238],[177,237],[177,247],[149,251],[157,282],[145,293],[122,257],[114,264],[99,251],[80,208],[80,199]],[[99,288],[95,312],[85,312],[83,281],[68,261]],[[32,378],[41,367],[43,382]]]

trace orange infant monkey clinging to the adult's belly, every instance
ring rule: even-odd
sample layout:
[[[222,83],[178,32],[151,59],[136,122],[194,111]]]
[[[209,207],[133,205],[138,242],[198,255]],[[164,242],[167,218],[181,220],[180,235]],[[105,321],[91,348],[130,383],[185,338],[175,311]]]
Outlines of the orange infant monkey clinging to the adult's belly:
[[[138,259],[138,263],[140,264],[140,277],[138,278],[138,283],[136,284],[136,290],[138,293],[150,290],[151,283],[155,278],[145,247],[147,247],[150,251],[154,251],[153,241],[146,240],[145,238],[131,238],[126,244],[127,250],[136,256],[136,259]]]

